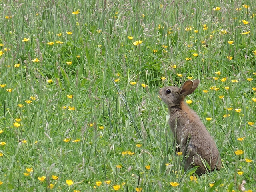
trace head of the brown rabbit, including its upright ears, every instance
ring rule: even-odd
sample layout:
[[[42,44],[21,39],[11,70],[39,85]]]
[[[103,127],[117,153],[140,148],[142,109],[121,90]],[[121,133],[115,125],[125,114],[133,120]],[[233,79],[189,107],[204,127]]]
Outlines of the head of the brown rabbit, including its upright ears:
[[[162,101],[168,105],[168,107],[178,106],[184,98],[194,92],[199,85],[200,80],[194,81],[188,80],[178,88],[174,86],[168,86],[160,89],[159,95]]]

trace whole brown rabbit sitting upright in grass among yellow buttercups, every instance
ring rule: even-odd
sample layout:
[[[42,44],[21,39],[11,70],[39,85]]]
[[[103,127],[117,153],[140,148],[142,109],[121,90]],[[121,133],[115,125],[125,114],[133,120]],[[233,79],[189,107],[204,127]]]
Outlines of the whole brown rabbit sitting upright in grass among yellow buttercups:
[[[186,157],[184,169],[200,166],[196,170],[198,176],[206,173],[204,160],[210,165],[211,171],[221,167],[214,140],[196,112],[184,102],[184,98],[194,92],[199,83],[198,79],[188,80],[180,88],[169,86],[159,91],[160,98],[168,105],[169,124],[178,144],[177,149]]]

